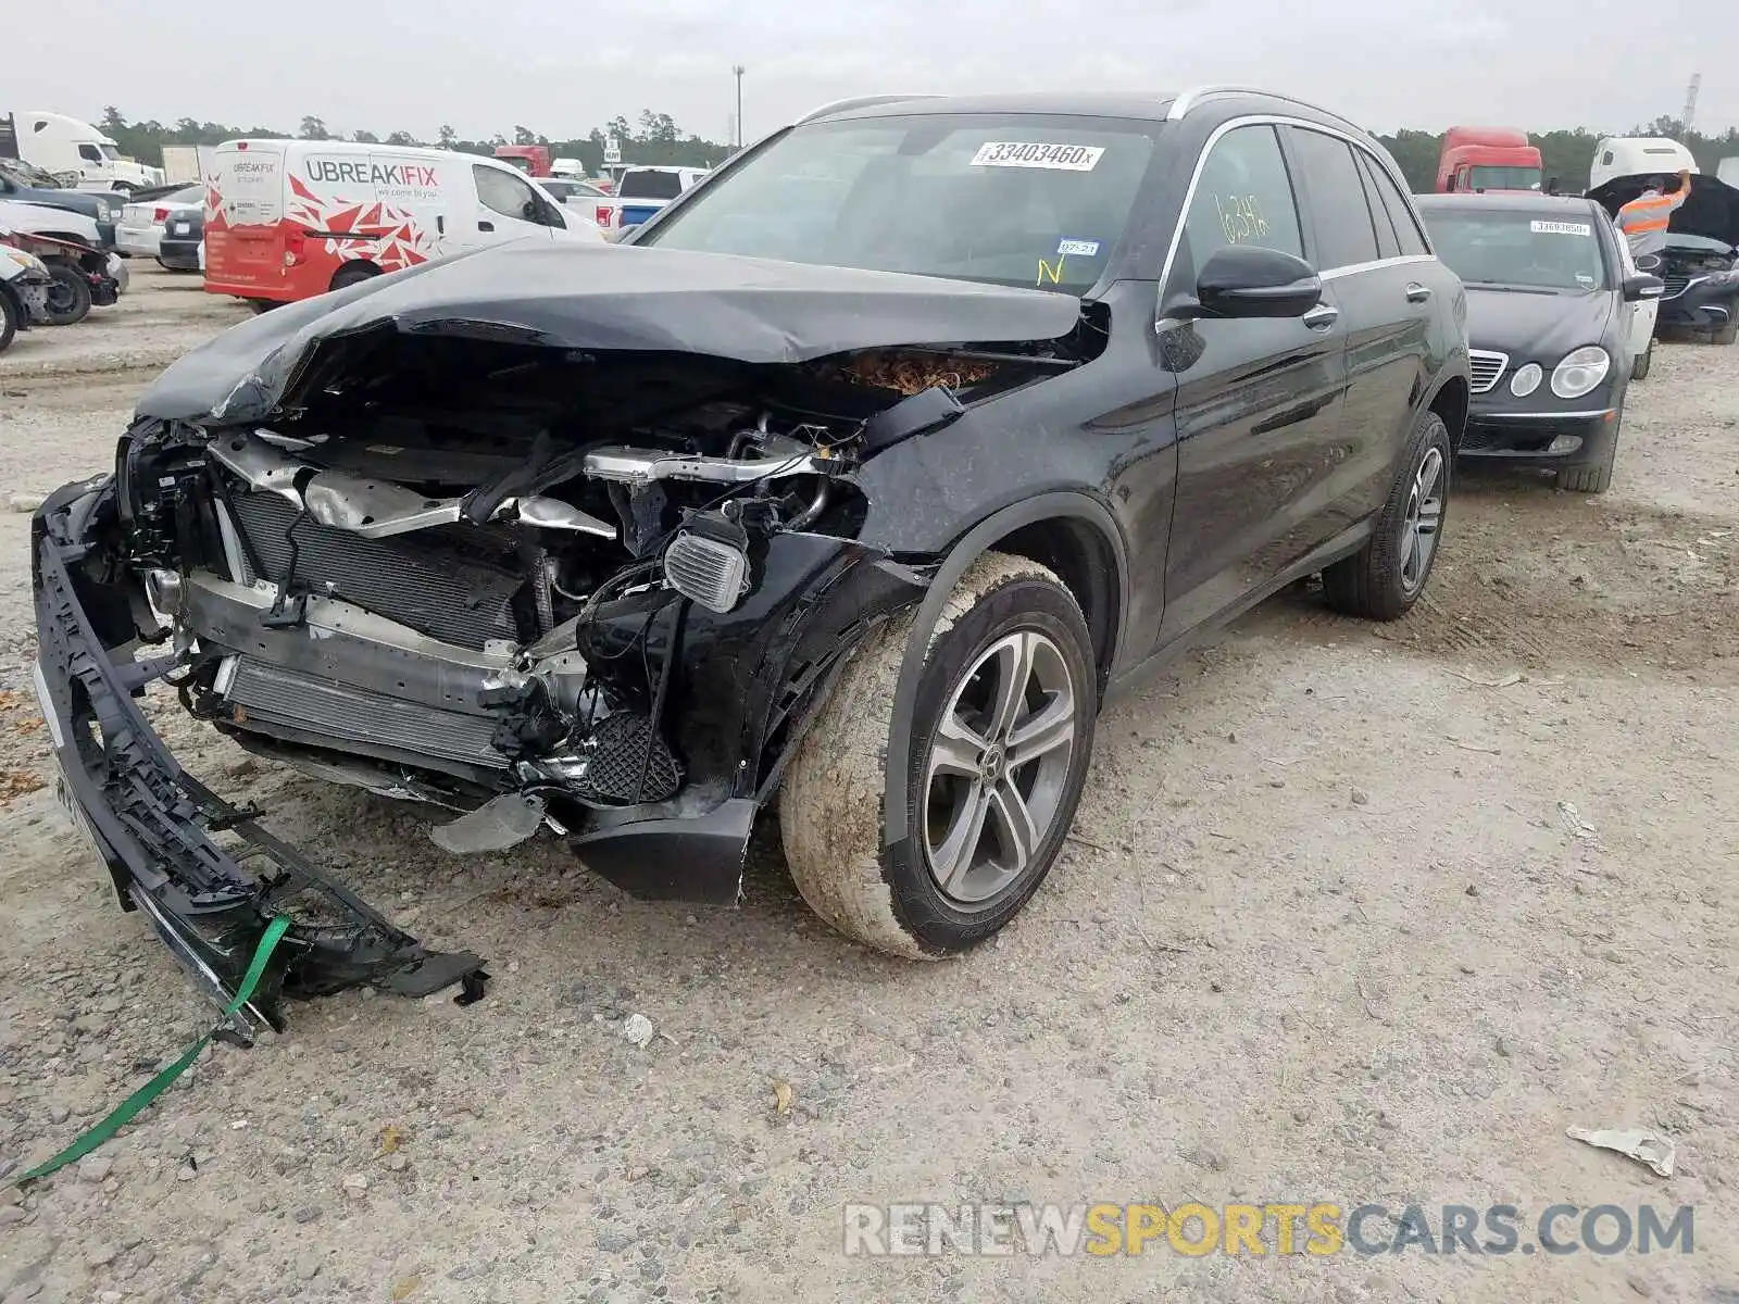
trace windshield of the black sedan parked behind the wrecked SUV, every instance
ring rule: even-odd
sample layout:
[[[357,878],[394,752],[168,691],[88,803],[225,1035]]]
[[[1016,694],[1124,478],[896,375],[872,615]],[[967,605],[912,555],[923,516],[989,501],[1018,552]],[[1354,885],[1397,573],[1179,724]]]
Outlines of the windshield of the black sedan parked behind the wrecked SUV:
[[[1436,256],[1469,285],[1542,290],[1610,287],[1595,214],[1541,217],[1502,209],[1424,210]]]

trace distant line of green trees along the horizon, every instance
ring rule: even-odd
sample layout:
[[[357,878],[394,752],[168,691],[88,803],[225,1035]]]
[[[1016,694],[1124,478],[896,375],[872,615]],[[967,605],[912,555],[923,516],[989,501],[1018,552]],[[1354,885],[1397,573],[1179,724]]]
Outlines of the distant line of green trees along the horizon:
[[[179,118],[170,125],[162,122],[127,122],[113,104],[103,111],[103,130],[115,137],[115,143],[141,163],[160,165],[165,144],[219,144],[237,137],[297,136],[304,141],[363,141],[367,144],[431,144],[443,150],[459,150],[473,155],[494,155],[499,144],[548,144],[555,158],[579,158],[591,174],[603,170],[603,143],[614,136],[623,148],[623,160],[630,163],[666,163],[680,167],[715,167],[730,156],[730,144],[704,141],[694,132],[683,132],[668,113],[645,110],[638,122],[616,116],[602,127],[593,127],[584,136],[572,139],[551,139],[530,127],[515,127],[513,137],[492,136],[487,141],[461,141],[452,127],[442,125],[433,141],[423,141],[412,132],[390,132],[381,137],[374,132],[358,130],[351,136],[336,136],[327,130],[322,118],[304,116],[296,132],[273,127],[230,127],[219,122],[195,122]],[[1642,127],[1633,127],[1629,136],[1669,136],[1683,141],[1696,155],[1697,165],[1704,172],[1715,172],[1722,158],[1739,155],[1739,129],[1729,127],[1720,136],[1704,136],[1685,130],[1676,118],[1656,118]],[[1588,188],[1588,169],[1595,160],[1595,141],[1602,132],[1576,127],[1572,130],[1530,132],[1529,139],[1539,146],[1548,177],[1555,177],[1567,193]],[[1436,181],[1436,155],[1443,143],[1442,132],[1423,132],[1402,129],[1389,136],[1377,134],[1377,139],[1395,155],[1407,181],[1416,191],[1431,190]]]

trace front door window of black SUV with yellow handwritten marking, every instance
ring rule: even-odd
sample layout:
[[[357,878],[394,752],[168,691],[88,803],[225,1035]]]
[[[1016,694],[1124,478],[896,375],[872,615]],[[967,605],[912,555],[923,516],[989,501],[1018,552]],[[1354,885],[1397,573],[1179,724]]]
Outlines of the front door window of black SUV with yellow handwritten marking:
[[[1184,236],[1196,273],[1226,245],[1304,256],[1297,200],[1273,127],[1233,127],[1209,148]]]

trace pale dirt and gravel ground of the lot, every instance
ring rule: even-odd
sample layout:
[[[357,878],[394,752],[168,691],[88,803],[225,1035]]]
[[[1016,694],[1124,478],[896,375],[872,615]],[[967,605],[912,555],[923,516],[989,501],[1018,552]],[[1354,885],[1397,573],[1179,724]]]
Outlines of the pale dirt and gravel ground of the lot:
[[[104,469],[143,367],[242,315],[144,269],[23,337],[0,496]],[[1656,355],[1610,494],[1471,475],[1409,619],[1285,596],[1109,709],[1064,862],[955,963],[831,935],[777,836],[737,909],[640,904],[553,845],[449,857],[160,699],[191,770],[494,984],[209,1050],[0,1194],[0,1299],[1739,1301],[1739,348]],[[26,537],[0,515],[0,1172],[209,1024],[31,791]],[[1696,1252],[845,1257],[843,1203],[899,1200],[1504,1203],[1523,1241],[1694,1205]]]

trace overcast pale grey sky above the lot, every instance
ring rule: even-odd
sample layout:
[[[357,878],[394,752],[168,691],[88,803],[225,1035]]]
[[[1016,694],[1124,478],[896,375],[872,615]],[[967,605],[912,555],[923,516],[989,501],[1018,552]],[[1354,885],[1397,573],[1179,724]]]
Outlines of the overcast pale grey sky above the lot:
[[[565,139],[652,108],[723,139],[734,63],[750,137],[854,94],[1203,82],[1287,90],[1374,130],[1610,134],[1678,116],[1697,70],[1696,125],[1739,123],[1732,0],[61,0],[0,85],[5,110],[96,118],[113,103],[134,122],[294,130],[315,113],[346,134],[525,123]]]

